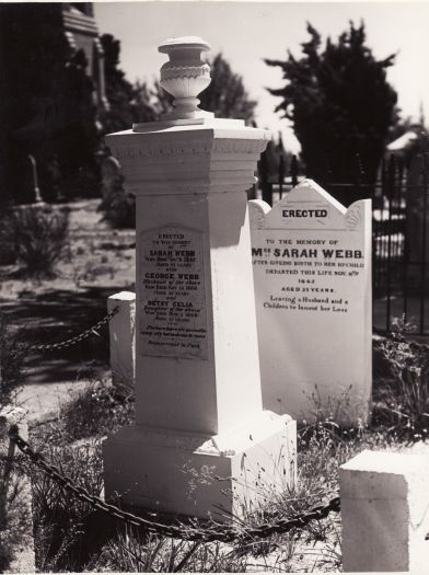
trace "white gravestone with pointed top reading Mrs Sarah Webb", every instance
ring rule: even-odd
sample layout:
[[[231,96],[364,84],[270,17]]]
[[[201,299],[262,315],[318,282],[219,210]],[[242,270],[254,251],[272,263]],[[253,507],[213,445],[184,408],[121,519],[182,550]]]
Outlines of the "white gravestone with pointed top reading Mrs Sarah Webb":
[[[371,396],[371,202],[348,209],[311,180],[273,209],[250,202],[263,400],[366,422]]]

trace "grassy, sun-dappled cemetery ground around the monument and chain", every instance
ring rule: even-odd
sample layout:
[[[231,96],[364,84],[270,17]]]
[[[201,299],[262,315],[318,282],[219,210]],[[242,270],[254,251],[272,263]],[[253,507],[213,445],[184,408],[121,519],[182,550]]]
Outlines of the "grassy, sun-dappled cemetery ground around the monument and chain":
[[[109,295],[134,290],[135,234],[109,230],[96,206],[97,200],[70,206],[69,246],[55,278],[31,279],[18,266],[0,269],[2,311],[31,345],[81,333],[105,315]],[[102,495],[102,439],[134,417],[129,390],[109,382],[107,329],[70,348],[28,352],[23,367],[18,403],[30,411],[31,445],[77,484]],[[340,401],[347,402],[347,395]],[[252,526],[273,525],[329,501],[338,491],[338,467],[363,449],[401,450],[426,438],[428,348],[401,333],[374,342],[373,412],[368,428],[340,428],[335,422],[338,402],[321,404],[314,388],[314,421],[301,422],[299,429],[297,487],[274,497],[267,485],[260,485],[266,506],[237,524],[243,536]],[[338,514],[286,534],[236,544],[195,543],[115,522],[30,462],[19,464],[32,478],[39,572],[341,570]]]

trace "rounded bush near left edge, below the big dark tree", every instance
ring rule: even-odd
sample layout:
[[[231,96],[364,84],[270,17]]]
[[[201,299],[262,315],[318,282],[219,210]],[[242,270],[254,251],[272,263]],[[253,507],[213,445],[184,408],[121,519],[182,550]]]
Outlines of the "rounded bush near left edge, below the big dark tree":
[[[68,241],[68,212],[54,211],[50,206],[21,207],[11,210],[2,223],[3,235],[25,273],[53,277]]]

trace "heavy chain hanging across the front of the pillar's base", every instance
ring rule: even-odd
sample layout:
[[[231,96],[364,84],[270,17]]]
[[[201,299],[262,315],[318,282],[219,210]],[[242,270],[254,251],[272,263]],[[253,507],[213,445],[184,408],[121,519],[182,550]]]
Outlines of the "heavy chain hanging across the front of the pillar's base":
[[[63,487],[69,493],[72,493],[78,499],[89,503],[93,508],[104,511],[116,519],[120,519],[128,525],[135,527],[142,527],[152,533],[159,533],[166,537],[186,539],[189,541],[220,541],[223,543],[233,543],[248,541],[256,538],[267,538],[274,533],[287,533],[292,529],[302,529],[310,521],[326,518],[329,513],[338,513],[340,510],[339,497],[334,497],[326,505],[320,505],[306,514],[302,514],[291,519],[279,519],[275,522],[265,522],[257,527],[235,528],[222,524],[211,522],[208,527],[194,528],[184,526],[174,526],[155,522],[144,519],[129,511],[124,511],[115,505],[105,503],[102,498],[91,495],[84,487],[78,486],[73,481],[62,474],[56,465],[48,463],[40,453],[35,452],[27,441],[20,437],[16,426],[12,426],[9,432],[10,439],[16,447],[27,456],[33,463],[42,469],[49,478],[51,478],[58,485]]]

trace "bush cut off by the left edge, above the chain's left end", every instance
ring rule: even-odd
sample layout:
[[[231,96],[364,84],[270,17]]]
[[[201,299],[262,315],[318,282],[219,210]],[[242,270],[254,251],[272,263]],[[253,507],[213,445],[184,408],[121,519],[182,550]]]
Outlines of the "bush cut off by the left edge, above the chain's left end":
[[[26,346],[0,312],[0,405],[13,402],[24,381]]]

